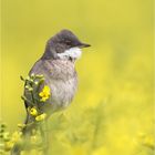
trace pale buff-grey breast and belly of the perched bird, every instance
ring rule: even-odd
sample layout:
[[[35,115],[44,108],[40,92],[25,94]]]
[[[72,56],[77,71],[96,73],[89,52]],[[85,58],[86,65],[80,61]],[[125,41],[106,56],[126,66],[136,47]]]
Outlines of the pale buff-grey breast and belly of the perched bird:
[[[51,87],[52,104],[66,107],[74,97],[78,86],[78,75],[74,64],[69,61],[52,61],[50,63],[49,85]],[[50,68],[50,66],[49,66]]]

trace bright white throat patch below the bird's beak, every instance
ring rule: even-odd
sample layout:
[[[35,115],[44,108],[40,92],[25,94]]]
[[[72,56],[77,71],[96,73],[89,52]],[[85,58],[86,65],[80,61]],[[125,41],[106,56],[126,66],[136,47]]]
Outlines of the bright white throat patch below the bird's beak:
[[[60,59],[80,59],[82,54],[82,50],[80,48],[71,48],[69,50],[65,50],[63,53],[58,53],[58,56]]]

